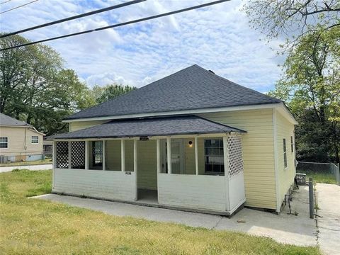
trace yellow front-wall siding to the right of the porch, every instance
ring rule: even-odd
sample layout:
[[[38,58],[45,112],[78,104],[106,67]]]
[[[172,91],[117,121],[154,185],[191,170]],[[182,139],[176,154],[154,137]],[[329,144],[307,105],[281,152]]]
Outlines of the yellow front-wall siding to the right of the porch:
[[[204,113],[200,116],[247,131],[242,135],[246,205],[276,209],[273,109]]]

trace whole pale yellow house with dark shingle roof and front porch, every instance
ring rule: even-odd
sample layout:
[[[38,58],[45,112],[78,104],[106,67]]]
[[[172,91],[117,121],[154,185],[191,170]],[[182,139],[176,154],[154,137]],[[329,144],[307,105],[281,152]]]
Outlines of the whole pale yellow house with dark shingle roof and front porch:
[[[283,101],[193,65],[64,120],[52,191],[232,215],[280,212],[295,177]]]

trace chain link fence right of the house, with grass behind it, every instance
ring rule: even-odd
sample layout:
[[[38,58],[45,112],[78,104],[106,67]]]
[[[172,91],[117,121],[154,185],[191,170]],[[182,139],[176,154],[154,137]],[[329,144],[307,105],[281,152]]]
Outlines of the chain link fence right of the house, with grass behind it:
[[[305,174],[305,179],[310,177],[319,183],[331,183],[340,185],[339,164],[297,162],[296,174]]]

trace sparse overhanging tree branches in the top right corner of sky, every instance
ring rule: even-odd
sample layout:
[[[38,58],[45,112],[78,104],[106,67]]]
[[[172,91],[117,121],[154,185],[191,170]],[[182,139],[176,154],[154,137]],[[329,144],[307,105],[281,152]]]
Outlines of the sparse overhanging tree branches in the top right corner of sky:
[[[340,26],[340,2],[333,0],[254,0],[244,6],[253,27],[261,30],[268,38],[278,35],[295,35],[329,30]]]

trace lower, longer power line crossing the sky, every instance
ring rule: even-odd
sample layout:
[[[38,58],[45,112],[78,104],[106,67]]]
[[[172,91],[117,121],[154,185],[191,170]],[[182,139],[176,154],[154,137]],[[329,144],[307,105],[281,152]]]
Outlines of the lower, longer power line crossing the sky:
[[[142,22],[142,21],[149,21],[149,20],[152,20],[154,18],[161,18],[161,17],[164,17],[164,16],[173,15],[173,14],[176,14],[176,13],[182,13],[182,12],[185,12],[185,11],[191,11],[191,10],[194,10],[194,9],[197,9],[197,8],[203,8],[203,7],[206,7],[206,6],[212,6],[212,5],[220,4],[220,3],[223,3],[223,2],[226,2],[226,1],[231,1],[231,0],[212,1],[212,2],[207,3],[207,4],[200,4],[198,6],[192,6],[192,7],[188,7],[188,8],[183,8],[183,9],[176,10],[176,11],[169,11],[167,13],[162,13],[162,14],[157,14],[157,15],[154,15],[154,16],[149,16],[147,18],[139,18],[139,19],[136,19],[136,20],[133,20],[133,21],[127,21],[127,22],[123,22],[123,23],[118,23],[118,24],[114,24],[114,25],[111,25],[111,26],[105,26],[105,27],[101,27],[101,28],[85,30],[85,31],[81,31],[81,32],[78,32],[78,33],[71,33],[71,34],[68,34],[68,35],[61,35],[61,36],[57,36],[55,38],[47,38],[47,39],[38,40],[38,41],[35,41],[35,42],[28,42],[28,43],[24,43],[22,45],[16,45],[16,46],[6,47],[4,49],[0,49],[0,52],[4,51],[4,50],[15,49],[15,48],[18,48],[18,47],[34,45],[34,44],[37,44],[37,43],[40,43],[40,42],[48,42],[48,41],[51,41],[51,40],[68,38],[68,37],[71,37],[71,36],[74,36],[74,35],[83,35],[83,34],[86,34],[86,33],[92,33],[92,32],[96,32],[96,31],[106,30],[106,29],[109,29],[109,28],[117,28],[117,27],[120,27],[120,26],[126,26],[126,25],[130,25],[132,23],[138,23],[138,22]]]

